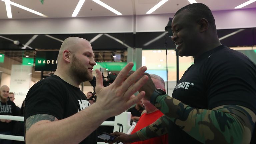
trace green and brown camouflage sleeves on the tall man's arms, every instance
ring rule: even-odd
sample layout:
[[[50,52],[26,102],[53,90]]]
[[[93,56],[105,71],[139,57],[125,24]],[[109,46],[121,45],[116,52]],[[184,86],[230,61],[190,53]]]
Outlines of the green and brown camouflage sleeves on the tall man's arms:
[[[256,115],[246,107],[224,105],[212,110],[196,109],[168,95],[158,96],[154,105],[164,116],[137,132],[141,140],[166,134],[172,121],[202,143],[250,143]]]

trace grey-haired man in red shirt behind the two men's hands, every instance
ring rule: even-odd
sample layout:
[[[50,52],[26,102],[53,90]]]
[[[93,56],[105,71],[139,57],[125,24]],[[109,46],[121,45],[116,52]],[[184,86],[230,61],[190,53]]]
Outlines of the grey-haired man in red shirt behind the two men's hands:
[[[162,89],[165,91],[165,83],[164,80],[155,74],[150,74],[150,77],[155,84],[156,88]],[[136,133],[140,129],[152,124],[155,122],[158,118],[163,116],[163,113],[158,110],[154,105],[152,105],[148,100],[145,98],[142,98],[142,103],[145,106],[145,113],[141,115],[138,123],[136,124],[135,128],[131,132],[131,134]],[[151,139],[147,139],[144,141],[138,141],[138,142],[133,142],[131,144],[168,144],[168,135],[162,135],[158,137],[154,137]]]

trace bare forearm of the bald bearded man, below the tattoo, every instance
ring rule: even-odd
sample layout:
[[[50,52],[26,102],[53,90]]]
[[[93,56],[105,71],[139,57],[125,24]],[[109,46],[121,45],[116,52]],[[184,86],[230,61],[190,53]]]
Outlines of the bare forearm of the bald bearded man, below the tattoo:
[[[94,104],[68,118],[35,123],[26,131],[26,143],[40,144],[77,144],[90,135],[107,117],[105,112],[98,113]]]

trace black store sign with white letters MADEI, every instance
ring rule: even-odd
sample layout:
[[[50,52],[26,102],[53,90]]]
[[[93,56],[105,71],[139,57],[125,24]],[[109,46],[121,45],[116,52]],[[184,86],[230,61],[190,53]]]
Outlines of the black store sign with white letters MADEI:
[[[55,71],[59,51],[37,51],[35,71]]]

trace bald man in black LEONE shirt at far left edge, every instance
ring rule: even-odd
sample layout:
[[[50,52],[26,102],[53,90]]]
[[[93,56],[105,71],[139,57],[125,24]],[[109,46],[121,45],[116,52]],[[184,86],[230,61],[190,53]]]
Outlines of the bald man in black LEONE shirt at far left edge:
[[[9,87],[3,85],[0,88],[0,115],[14,115],[17,116],[16,105],[14,102],[10,101],[9,96]],[[14,125],[14,121],[0,119],[0,134],[12,134],[12,127]],[[0,144],[11,144],[11,140],[0,139]]]

